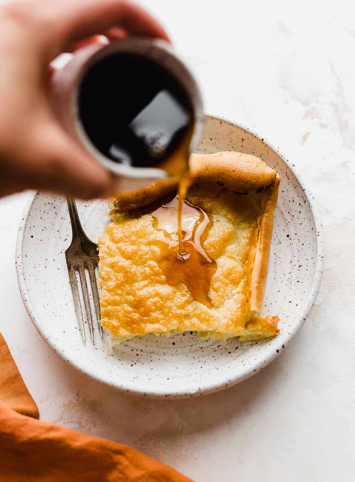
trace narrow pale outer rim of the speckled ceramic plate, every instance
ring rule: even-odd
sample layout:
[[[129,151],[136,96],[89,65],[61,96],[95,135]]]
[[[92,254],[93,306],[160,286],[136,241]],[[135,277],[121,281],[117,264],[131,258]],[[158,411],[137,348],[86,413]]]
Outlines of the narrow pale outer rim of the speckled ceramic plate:
[[[226,119],[225,117],[219,117],[215,115],[210,115],[206,114],[206,117],[211,117],[215,120],[222,120],[225,123],[230,124],[231,126],[236,126],[239,127],[240,129],[243,129],[249,134],[252,134],[254,137],[258,138],[259,140],[263,139],[263,143],[269,146],[271,149],[273,149],[274,152],[282,159],[282,161],[287,165],[291,173],[295,176],[297,182],[300,184],[302,187],[302,190],[304,192],[304,195],[307,199],[307,202],[310,206],[310,210],[312,213],[312,217],[315,223],[316,227],[316,232],[318,236],[316,236],[316,246],[317,246],[317,254],[316,254],[316,268],[315,268],[315,273],[313,277],[313,282],[312,282],[312,287],[309,292],[309,295],[303,305],[303,311],[301,315],[299,316],[299,322],[295,323],[292,328],[289,331],[289,336],[285,342],[285,340],[280,341],[278,345],[276,345],[276,349],[269,353],[263,361],[260,361],[254,365],[250,365],[248,367],[245,367],[245,369],[241,371],[234,377],[228,380],[228,383],[225,381],[223,382],[211,382],[209,385],[206,385],[206,387],[201,388],[198,392],[186,395],[183,391],[178,391],[176,393],[171,393],[169,398],[186,398],[186,396],[198,396],[198,395],[206,395],[209,393],[213,393],[215,391],[223,390],[224,388],[230,387],[232,385],[235,385],[237,383],[242,382],[243,380],[249,378],[250,376],[254,375],[257,373],[260,369],[264,368],[266,365],[268,365],[270,362],[275,360],[278,355],[283,351],[282,348],[286,346],[286,344],[291,340],[291,338],[296,335],[296,333],[299,331],[301,326],[303,325],[304,321],[306,321],[309,312],[311,311],[315,301],[316,301],[316,296],[319,292],[320,288],[320,283],[322,281],[322,275],[323,275],[323,269],[324,269],[324,235],[323,235],[323,227],[320,219],[320,215],[318,213],[318,208],[316,206],[315,199],[311,193],[311,191],[303,186],[303,183],[300,179],[300,174],[298,173],[297,168],[295,168],[295,165],[292,164],[288,159],[286,159],[286,156],[280,152],[280,149],[278,147],[274,147],[274,145],[270,142],[266,142],[266,137],[261,137],[259,134],[257,134],[253,129],[247,128],[242,124],[237,124],[236,122],[233,122],[231,120]],[[23,234],[24,234],[24,228],[26,225],[27,217],[29,214],[29,211],[31,209],[31,205],[38,194],[38,191],[32,192],[28,200],[26,202],[26,205],[24,207],[22,217],[19,223],[19,228],[17,231],[17,237],[16,237],[16,248],[15,248],[15,266],[16,266],[16,277],[17,277],[17,282],[18,286],[20,289],[20,294],[22,301],[25,305],[26,311],[34,324],[36,330],[38,331],[39,335],[44,339],[44,341],[49,345],[50,348],[53,349],[54,352],[56,352],[65,362],[69,363],[70,365],[74,366],[79,372],[84,373],[86,375],[89,375],[93,379],[104,383],[105,385],[108,385],[110,387],[114,387],[118,389],[119,391],[129,393],[131,395],[136,395],[136,396],[143,396],[146,398],[166,398],[165,395],[162,395],[161,393],[156,393],[156,392],[149,392],[146,389],[127,389],[124,385],[121,385],[119,383],[108,383],[105,380],[101,379],[100,376],[95,375],[94,373],[91,373],[90,370],[83,369],[78,363],[75,363],[69,359],[66,358],[65,354],[62,352],[61,348],[56,346],[54,343],[51,343],[51,339],[46,337],[42,332],[40,328],[40,323],[37,321],[37,314],[32,306],[32,303],[29,299],[28,296],[28,291],[26,287],[26,281],[25,281],[25,273],[24,273],[24,267],[23,267],[23,262],[22,262],[22,244],[23,244]],[[277,337],[276,337],[277,340]],[[284,345],[284,346],[283,346]]]

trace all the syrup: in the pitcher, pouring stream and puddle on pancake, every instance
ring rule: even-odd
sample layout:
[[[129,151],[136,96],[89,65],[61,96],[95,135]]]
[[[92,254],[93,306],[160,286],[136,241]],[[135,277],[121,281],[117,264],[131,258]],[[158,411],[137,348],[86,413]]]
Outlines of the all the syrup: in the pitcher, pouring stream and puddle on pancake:
[[[177,196],[152,213],[158,239],[166,246],[159,267],[168,283],[185,283],[195,300],[211,307],[208,293],[216,263],[202,243],[212,220],[185,201],[195,119],[184,88],[146,57],[117,53],[88,70],[80,84],[78,108],[86,134],[107,158],[179,177]]]

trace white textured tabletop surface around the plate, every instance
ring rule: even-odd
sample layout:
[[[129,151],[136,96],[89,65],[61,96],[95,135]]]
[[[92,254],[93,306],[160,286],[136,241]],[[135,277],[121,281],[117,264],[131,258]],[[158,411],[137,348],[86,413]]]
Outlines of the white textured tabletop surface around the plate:
[[[0,331],[42,420],[129,444],[197,482],[353,481],[355,472],[355,10],[352,1],[149,0],[200,81],[206,111],[280,147],[319,206],[326,269],[287,350],[228,390],[124,396],[42,341],[15,276],[27,194],[0,200]]]

